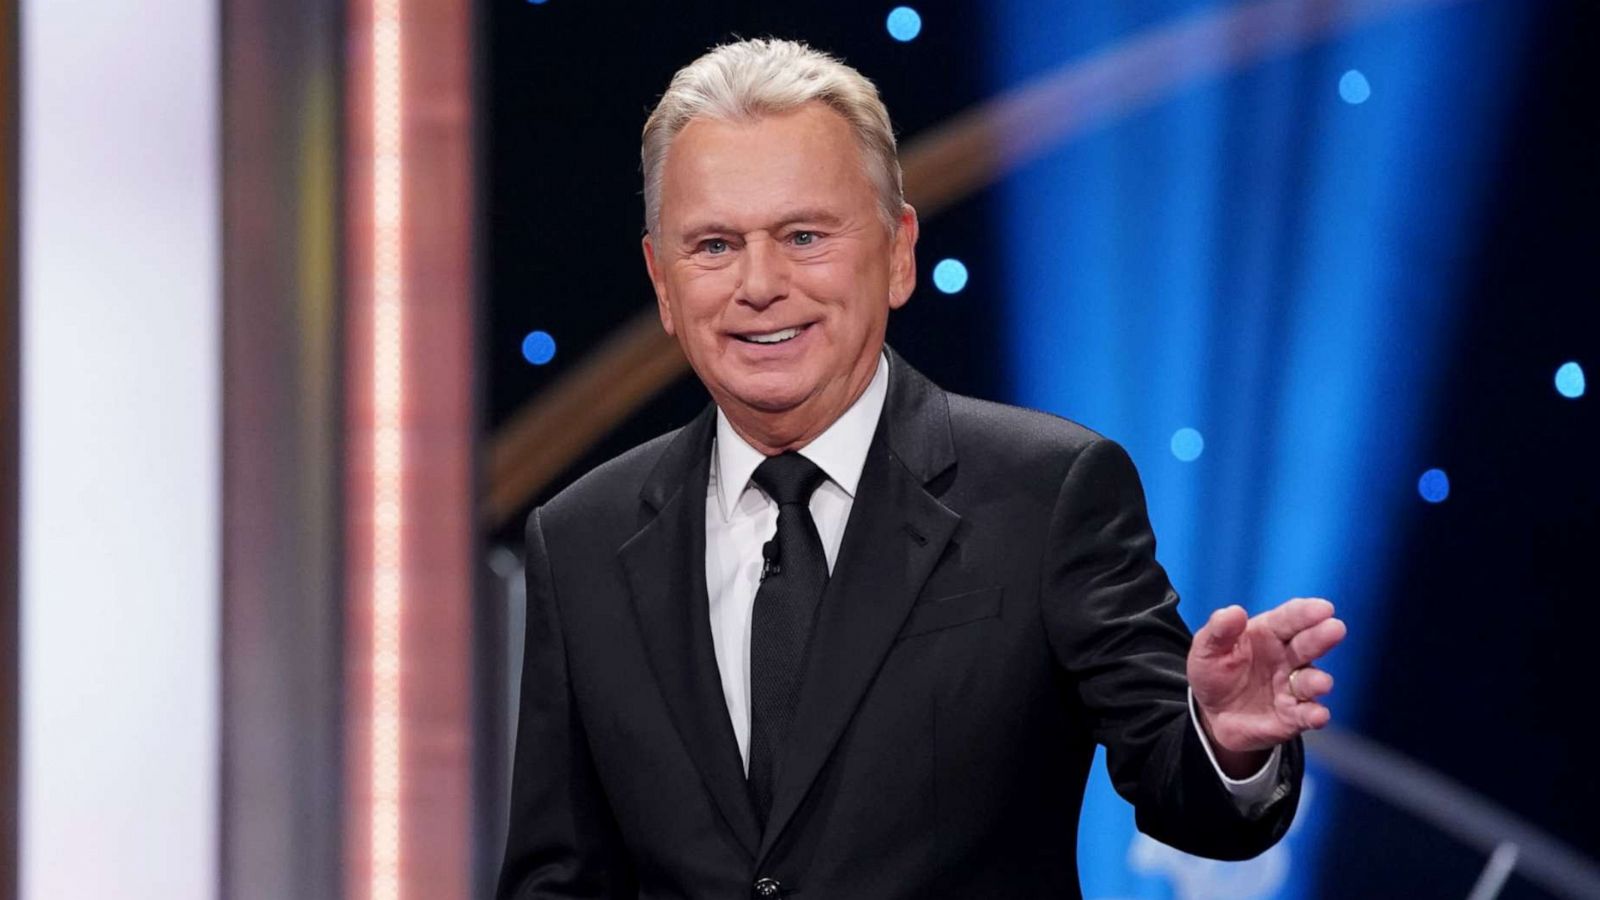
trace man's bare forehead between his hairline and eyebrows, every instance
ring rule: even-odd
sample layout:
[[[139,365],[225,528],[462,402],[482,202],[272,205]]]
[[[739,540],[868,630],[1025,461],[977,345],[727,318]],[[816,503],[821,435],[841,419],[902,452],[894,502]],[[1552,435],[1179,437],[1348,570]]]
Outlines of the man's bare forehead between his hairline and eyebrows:
[[[752,221],[781,207],[877,202],[845,117],[821,102],[750,120],[693,119],[667,147],[661,215]]]

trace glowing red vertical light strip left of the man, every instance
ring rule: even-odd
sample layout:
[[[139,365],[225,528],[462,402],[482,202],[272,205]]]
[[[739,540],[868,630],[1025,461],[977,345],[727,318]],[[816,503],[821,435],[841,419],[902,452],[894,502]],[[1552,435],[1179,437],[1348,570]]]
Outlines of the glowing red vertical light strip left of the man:
[[[470,3],[350,0],[347,21],[347,895],[464,898]]]

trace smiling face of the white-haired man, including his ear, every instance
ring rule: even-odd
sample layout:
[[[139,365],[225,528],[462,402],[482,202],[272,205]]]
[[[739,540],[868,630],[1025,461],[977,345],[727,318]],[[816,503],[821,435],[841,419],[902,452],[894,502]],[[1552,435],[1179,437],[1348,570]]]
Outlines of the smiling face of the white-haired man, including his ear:
[[[728,416],[814,437],[870,381],[915,287],[915,213],[885,226],[850,125],[813,102],[690,122],[645,264],[661,323]]]

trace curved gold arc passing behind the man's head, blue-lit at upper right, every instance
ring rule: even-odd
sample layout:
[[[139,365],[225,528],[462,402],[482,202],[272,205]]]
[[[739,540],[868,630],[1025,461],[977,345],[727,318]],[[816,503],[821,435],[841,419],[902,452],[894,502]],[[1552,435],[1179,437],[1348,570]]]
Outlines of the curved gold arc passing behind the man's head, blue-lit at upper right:
[[[1416,6],[1461,0],[1267,0],[1157,26],[938,125],[901,151],[906,200],[926,219],[1066,139],[1189,83]],[[504,524],[619,421],[683,375],[654,307],[618,328],[490,442],[485,514]]]

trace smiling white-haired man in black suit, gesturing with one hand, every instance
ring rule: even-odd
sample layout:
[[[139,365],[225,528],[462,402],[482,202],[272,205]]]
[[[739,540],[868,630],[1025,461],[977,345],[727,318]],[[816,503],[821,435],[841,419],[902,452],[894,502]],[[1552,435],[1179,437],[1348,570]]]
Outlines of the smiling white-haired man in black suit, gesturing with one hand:
[[[750,40],[645,125],[645,263],[714,405],[528,519],[502,898],[1077,897],[1094,743],[1139,828],[1288,828],[1326,601],[1190,642],[1126,453],[883,346],[915,285],[888,115]]]

